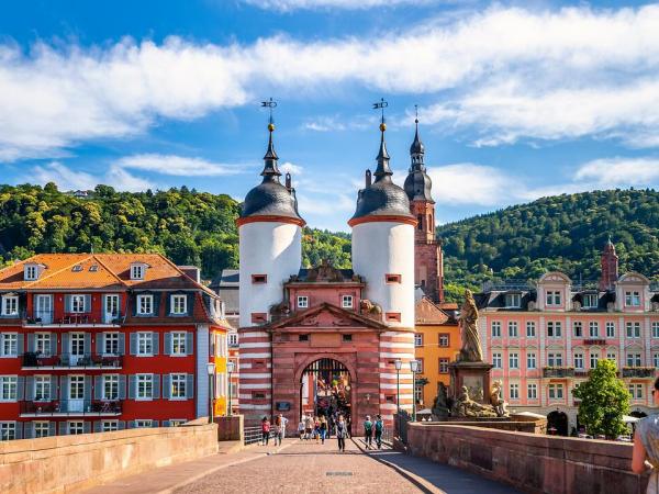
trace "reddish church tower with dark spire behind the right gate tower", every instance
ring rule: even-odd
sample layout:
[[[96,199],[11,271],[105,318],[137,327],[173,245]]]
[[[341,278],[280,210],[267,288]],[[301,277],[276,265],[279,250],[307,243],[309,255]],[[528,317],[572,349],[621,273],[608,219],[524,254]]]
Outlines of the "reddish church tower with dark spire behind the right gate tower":
[[[435,201],[433,181],[424,165],[425,148],[418,138],[418,119],[414,142],[410,147],[412,164],[405,179],[410,211],[418,222],[414,236],[414,282],[434,302],[444,302],[444,260],[442,245],[435,237]]]

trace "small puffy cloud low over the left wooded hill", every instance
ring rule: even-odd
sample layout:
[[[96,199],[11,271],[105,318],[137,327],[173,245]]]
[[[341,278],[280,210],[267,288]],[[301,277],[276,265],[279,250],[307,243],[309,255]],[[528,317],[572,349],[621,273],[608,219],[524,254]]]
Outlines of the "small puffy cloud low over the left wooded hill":
[[[111,166],[104,175],[92,175],[72,170],[59,161],[35,166],[19,181],[46,184],[55,182],[59,190],[91,190],[99,183],[112,186],[118,190],[143,191],[153,188],[153,183],[134,177],[124,169]]]

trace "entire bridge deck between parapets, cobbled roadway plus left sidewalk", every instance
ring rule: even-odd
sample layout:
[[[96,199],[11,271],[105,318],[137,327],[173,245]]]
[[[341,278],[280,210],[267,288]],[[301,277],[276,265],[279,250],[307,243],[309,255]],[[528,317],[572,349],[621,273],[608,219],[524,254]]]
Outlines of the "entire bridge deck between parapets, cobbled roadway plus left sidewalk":
[[[243,451],[164,467],[86,491],[87,494],[488,493],[518,491],[462,470],[389,448],[364,449],[361,439],[286,439],[282,447]]]

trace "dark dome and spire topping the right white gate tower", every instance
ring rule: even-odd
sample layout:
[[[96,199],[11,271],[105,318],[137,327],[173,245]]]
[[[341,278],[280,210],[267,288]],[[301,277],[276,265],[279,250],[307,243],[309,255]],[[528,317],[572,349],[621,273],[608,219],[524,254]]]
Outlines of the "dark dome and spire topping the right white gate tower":
[[[403,189],[393,183],[391,176],[393,172],[389,167],[389,154],[384,143],[384,130],[382,123],[380,130],[380,150],[378,153],[378,168],[373,176],[376,181],[361,189],[357,197],[357,210],[351,220],[364,216],[404,216],[413,217],[410,214],[410,200]]]

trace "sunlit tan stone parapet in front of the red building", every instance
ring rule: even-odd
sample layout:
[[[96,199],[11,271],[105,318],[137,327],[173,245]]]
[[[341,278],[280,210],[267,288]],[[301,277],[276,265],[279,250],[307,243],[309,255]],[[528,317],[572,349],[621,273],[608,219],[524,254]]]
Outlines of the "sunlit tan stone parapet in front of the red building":
[[[0,492],[74,492],[215,452],[214,424],[0,441]]]

